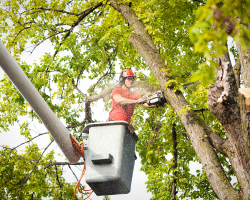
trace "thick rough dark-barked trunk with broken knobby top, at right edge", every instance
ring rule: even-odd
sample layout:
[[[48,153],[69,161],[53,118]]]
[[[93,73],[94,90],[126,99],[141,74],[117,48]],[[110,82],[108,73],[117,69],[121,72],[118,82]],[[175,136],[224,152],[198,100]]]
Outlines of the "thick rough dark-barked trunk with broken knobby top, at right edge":
[[[231,148],[227,156],[232,164],[244,199],[250,198],[250,162],[249,148],[242,131],[242,118],[238,101],[238,86],[228,53],[216,59],[217,70],[215,84],[210,87],[208,106],[225,129]],[[240,97],[239,97],[240,98]],[[242,98],[242,97],[241,97]]]

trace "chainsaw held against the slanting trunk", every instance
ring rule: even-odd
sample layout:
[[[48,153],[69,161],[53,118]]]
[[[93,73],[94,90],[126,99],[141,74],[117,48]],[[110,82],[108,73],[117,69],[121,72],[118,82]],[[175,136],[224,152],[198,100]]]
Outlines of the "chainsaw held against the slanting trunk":
[[[149,106],[164,106],[166,99],[162,91],[157,91],[152,94],[146,94],[142,98],[137,100],[138,104],[147,103]]]

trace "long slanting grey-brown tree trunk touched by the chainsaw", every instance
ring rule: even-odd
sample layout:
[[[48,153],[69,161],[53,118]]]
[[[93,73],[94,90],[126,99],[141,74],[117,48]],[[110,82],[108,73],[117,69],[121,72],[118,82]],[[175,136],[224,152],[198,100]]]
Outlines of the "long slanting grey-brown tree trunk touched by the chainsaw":
[[[216,135],[216,133],[213,133],[195,112],[191,110],[188,102],[180,91],[174,92],[172,87],[166,87],[167,82],[171,78],[168,71],[163,71],[163,69],[167,70],[167,67],[155,46],[152,45],[153,41],[151,37],[146,32],[143,24],[138,20],[134,11],[129,8],[129,6],[119,3],[117,0],[110,1],[110,4],[123,15],[133,28],[135,33],[130,35],[129,41],[148,64],[164,91],[165,98],[171,104],[186,128],[213,190],[220,199],[240,199],[238,193],[227,179],[213,146],[210,143],[210,139],[213,140],[213,138],[208,139],[208,137]],[[186,111],[182,112],[185,108],[187,108]]]

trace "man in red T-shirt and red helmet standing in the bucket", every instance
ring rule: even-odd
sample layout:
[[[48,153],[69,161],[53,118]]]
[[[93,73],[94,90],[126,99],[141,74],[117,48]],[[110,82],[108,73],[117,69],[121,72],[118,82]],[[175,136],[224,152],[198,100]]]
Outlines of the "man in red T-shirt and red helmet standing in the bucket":
[[[141,95],[130,91],[133,82],[134,73],[130,69],[124,69],[119,77],[121,87],[115,88],[111,93],[112,109],[109,112],[107,121],[131,122],[135,104],[137,104],[137,100],[141,98]],[[140,105],[147,108],[156,107],[155,105],[149,106],[147,103]]]

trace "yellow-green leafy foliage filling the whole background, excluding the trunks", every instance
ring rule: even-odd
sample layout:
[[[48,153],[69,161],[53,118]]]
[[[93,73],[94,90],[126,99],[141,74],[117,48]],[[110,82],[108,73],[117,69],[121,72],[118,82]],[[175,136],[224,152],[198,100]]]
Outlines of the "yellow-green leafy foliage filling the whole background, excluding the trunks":
[[[82,121],[79,116],[85,111],[86,96],[97,94],[114,83],[115,73],[121,69],[132,68],[137,80],[157,83],[128,41],[132,33],[130,25],[110,6],[109,1],[99,3],[97,0],[1,2],[0,36],[3,36],[4,44],[51,109],[67,126],[74,126]],[[250,4],[244,0],[223,1],[222,5],[218,0],[123,0],[121,3],[131,4],[131,8],[144,23],[168,66],[177,89],[185,94],[190,108],[197,110],[198,116],[224,137],[221,125],[207,109],[207,86],[213,80],[215,68],[211,52],[216,51],[220,55],[225,51],[221,44],[227,41],[228,35],[235,36],[236,41],[242,44],[246,42],[248,45],[249,31],[234,16],[239,16],[244,23],[248,23],[249,15],[246,15],[246,11]],[[93,10],[86,14],[89,8]],[[219,28],[219,31],[215,31],[213,26]],[[242,37],[238,36],[238,32]],[[52,44],[54,54],[47,52],[41,55],[40,61],[32,65],[23,61],[23,52],[36,51],[43,42]],[[84,85],[88,87],[86,96],[74,88],[74,85],[80,86],[87,80],[97,79],[97,84]],[[200,79],[203,85],[196,82],[186,88],[182,87],[190,80]],[[3,131],[7,131],[20,116],[38,119],[7,77],[0,81],[0,85],[0,128]],[[171,158],[173,124],[176,124],[178,143],[176,169],[173,169]],[[140,140],[136,150],[142,159],[141,170],[148,175],[147,188],[154,195],[152,199],[171,198],[175,171],[177,190],[181,191],[177,194],[177,199],[216,198],[204,171],[197,171],[196,174],[190,171],[190,162],[199,160],[170,105],[151,110],[137,107],[133,125],[139,133]],[[27,123],[23,124],[20,134],[28,140],[31,135],[24,128],[26,126]],[[75,126],[70,130],[77,136],[81,127]],[[25,153],[21,155],[8,148],[3,148],[0,153],[0,192],[1,197],[7,199],[16,192],[18,184],[31,170],[32,163],[40,153],[36,144],[27,146]],[[18,194],[19,199],[29,196],[36,199],[41,199],[42,196],[53,199],[73,198],[73,186],[62,178],[61,167],[43,169],[44,165],[53,160],[53,152],[47,153],[40,160],[22,192]],[[233,177],[234,173],[226,158],[220,155],[220,160],[228,171],[228,177]]]

